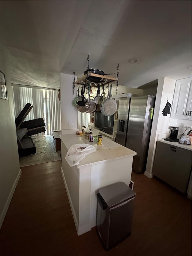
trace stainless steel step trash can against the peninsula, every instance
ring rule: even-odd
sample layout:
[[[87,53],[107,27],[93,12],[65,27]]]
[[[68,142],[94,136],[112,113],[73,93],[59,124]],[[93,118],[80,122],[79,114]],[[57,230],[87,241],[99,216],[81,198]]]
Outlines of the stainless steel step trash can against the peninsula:
[[[124,182],[99,190],[97,232],[106,250],[131,235],[135,195]]]

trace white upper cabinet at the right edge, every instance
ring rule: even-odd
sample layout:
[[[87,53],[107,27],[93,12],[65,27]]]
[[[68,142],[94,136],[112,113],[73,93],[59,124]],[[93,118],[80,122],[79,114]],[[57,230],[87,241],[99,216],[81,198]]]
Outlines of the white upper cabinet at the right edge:
[[[176,81],[171,118],[191,120],[192,116],[192,79],[184,78]]]

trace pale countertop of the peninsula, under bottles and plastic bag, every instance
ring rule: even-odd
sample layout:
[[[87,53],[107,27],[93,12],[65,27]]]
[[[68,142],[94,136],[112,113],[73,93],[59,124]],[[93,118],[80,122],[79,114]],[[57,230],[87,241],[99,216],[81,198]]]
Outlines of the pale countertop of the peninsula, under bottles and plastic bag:
[[[94,153],[91,153],[79,162],[79,166],[87,164],[98,164],[98,162],[112,161],[121,157],[128,157],[137,155],[137,153],[131,149],[128,149],[106,137],[103,138],[103,145],[89,142],[84,136],[76,134],[60,135],[61,141],[66,146],[67,150],[74,145],[79,143],[85,143],[95,146],[97,149]]]

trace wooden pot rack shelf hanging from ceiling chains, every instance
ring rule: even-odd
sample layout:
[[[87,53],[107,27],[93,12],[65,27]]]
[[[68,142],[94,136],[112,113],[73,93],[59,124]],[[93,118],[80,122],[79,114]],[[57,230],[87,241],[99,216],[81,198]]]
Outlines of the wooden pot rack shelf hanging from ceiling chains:
[[[75,84],[81,84],[81,85],[88,85],[88,80],[87,80],[87,77],[100,77],[102,78],[98,83],[94,83],[94,82],[91,82],[91,84],[93,86],[103,86],[103,85],[106,85],[108,83],[112,83],[113,81],[117,81],[118,78],[114,78],[114,77],[107,77],[107,76],[102,76],[102,75],[97,75],[97,74],[94,74],[94,73],[91,73],[91,72],[88,72],[86,75],[84,75],[83,77],[79,78]]]

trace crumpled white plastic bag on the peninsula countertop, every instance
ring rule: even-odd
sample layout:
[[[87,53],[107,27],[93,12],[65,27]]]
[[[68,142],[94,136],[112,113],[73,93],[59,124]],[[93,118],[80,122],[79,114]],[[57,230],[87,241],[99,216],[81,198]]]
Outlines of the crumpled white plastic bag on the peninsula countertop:
[[[70,147],[65,159],[70,167],[79,164],[86,155],[96,151],[96,148],[89,144],[74,144]]]

